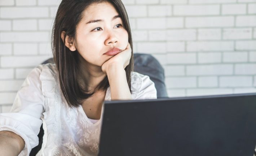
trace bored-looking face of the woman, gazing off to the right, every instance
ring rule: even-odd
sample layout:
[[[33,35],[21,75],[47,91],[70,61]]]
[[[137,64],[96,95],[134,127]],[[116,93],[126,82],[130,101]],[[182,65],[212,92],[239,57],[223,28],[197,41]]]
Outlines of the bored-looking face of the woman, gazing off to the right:
[[[113,47],[126,49],[128,33],[118,15],[114,6],[105,2],[92,4],[84,10],[74,42],[76,50],[88,63],[102,66],[113,57],[103,55],[105,52]]]

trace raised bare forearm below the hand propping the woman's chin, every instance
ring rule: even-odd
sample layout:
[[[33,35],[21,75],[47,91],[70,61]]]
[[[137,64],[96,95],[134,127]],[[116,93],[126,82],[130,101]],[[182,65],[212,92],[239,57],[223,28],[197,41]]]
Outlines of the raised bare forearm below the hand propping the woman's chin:
[[[124,68],[113,64],[109,66],[106,72],[109,79],[111,100],[132,100]]]

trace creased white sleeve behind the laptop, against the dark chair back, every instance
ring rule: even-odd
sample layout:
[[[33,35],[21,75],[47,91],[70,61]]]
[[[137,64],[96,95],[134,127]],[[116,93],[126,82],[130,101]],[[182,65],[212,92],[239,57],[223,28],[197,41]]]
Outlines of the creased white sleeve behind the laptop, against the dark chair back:
[[[141,99],[155,99],[156,97],[156,88],[155,83],[150,80],[149,76],[143,75],[141,77],[140,88],[135,93],[135,97],[133,100],[141,100]]]

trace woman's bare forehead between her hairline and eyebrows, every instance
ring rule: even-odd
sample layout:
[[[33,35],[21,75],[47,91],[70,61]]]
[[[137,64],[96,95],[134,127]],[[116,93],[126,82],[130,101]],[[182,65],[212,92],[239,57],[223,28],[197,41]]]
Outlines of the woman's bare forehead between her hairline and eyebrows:
[[[88,6],[83,12],[83,17],[85,20],[89,21],[92,19],[109,18],[112,19],[118,12],[114,6],[109,2],[93,3]]]

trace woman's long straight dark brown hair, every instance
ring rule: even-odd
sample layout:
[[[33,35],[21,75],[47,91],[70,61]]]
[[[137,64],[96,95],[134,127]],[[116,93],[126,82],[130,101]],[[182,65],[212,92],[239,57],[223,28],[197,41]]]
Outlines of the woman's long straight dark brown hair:
[[[121,0],[62,0],[57,10],[56,18],[54,20],[52,29],[52,52],[54,63],[56,64],[59,84],[63,96],[65,97],[67,104],[70,107],[79,107],[83,101],[92,96],[93,93],[88,93],[87,88],[82,87],[78,83],[79,76],[79,61],[78,52],[71,51],[65,46],[62,41],[61,32],[65,31],[64,41],[66,36],[75,37],[76,26],[82,18],[83,11],[91,4],[109,2],[116,11],[119,13],[123,21],[123,27],[128,32],[128,42],[131,45],[132,56],[130,63],[125,68],[127,83],[129,90],[131,91],[131,73],[133,71],[133,46],[132,46],[132,34],[129,24],[127,12],[124,4]],[[88,45],[89,46],[89,45]],[[109,87],[109,81],[107,76],[98,85],[97,88],[106,91]]]

